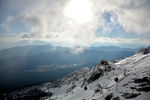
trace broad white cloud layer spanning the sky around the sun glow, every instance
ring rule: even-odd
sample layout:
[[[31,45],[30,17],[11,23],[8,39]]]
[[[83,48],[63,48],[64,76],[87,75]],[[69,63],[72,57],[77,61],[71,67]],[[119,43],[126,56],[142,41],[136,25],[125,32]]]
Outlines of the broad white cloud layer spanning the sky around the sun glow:
[[[64,11],[70,0],[43,0],[36,2],[33,7],[24,9],[17,16],[8,17],[1,27],[12,32],[15,30],[14,26],[21,23],[23,24],[21,27],[22,38],[45,39],[51,43],[67,44],[71,48],[76,46],[88,47],[94,42],[118,43],[121,41],[129,43],[140,39],[136,36],[133,37],[134,39],[123,39],[119,36],[109,37],[112,30],[118,26],[121,26],[127,33],[149,36],[149,0],[88,1],[91,3],[91,19],[86,23],[79,23],[65,16]],[[96,35],[97,30],[101,30],[99,36]],[[120,31],[119,28],[117,30]],[[143,43],[150,43],[150,41],[145,40]],[[82,52],[83,50],[76,48],[73,52],[76,53],[76,51]]]

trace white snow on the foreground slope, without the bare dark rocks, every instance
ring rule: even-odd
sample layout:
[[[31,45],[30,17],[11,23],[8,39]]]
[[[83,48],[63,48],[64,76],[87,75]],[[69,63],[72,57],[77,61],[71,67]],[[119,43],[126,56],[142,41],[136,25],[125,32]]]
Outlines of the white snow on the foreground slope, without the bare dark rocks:
[[[58,92],[57,98],[56,95],[52,96],[52,99],[56,100],[104,100],[104,98],[110,94],[113,93],[114,97],[120,97],[121,100],[125,100],[124,97],[122,97],[121,93],[139,93],[136,90],[132,90],[129,87],[136,86],[135,83],[131,82],[131,79],[133,78],[140,78],[143,77],[144,72],[150,72],[150,54],[143,55],[142,53],[135,54],[131,57],[125,58],[117,63],[115,63],[115,70],[112,70],[107,73],[107,75],[104,75],[100,77],[98,80],[95,80],[94,82],[87,85],[88,90],[84,90],[84,88],[81,88],[81,84],[79,81],[82,81],[83,78],[79,79],[78,82],[76,82],[77,87],[75,87],[70,93],[65,93],[65,88],[60,89],[53,89],[52,91]],[[97,67],[98,68],[98,67]],[[95,68],[94,70],[96,70]],[[124,75],[124,70],[126,69],[126,75]],[[91,73],[94,71],[91,70],[89,73],[87,73],[87,76],[91,75]],[[114,82],[114,78],[118,77],[119,82]],[[102,93],[95,93],[95,89],[98,88],[98,84],[101,84],[102,86]],[[127,85],[126,85],[127,84]],[[125,86],[126,85],[126,86]],[[118,87],[118,91],[116,90],[116,87]],[[68,86],[69,88],[69,86]],[[62,89],[62,90],[61,90]],[[59,93],[61,91],[61,93]],[[149,100],[150,92],[141,92],[141,95],[137,96],[136,98],[132,98],[130,100]]]

